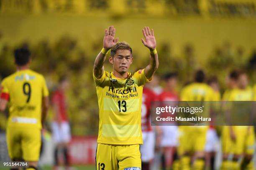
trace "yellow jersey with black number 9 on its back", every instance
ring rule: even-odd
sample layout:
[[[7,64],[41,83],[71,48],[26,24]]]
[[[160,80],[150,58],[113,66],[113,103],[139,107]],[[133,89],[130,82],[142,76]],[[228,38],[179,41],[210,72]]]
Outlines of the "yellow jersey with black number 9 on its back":
[[[20,70],[3,79],[1,98],[9,101],[7,127],[41,128],[42,98],[48,95],[44,77],[32,70]]]

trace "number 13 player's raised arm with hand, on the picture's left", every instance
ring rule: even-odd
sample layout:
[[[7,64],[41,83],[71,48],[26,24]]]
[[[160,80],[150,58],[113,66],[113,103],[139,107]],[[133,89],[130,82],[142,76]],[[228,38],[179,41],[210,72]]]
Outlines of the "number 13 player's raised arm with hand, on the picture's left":
[[[105,36],[103,39],[103,48],[105,51],[110,50],[118,41],[118,38],[115,39],[115,28],[113,26],[108,27],[108,30],[105,29]],[[106,60],[106,53],[102,53],[102,51],[97,55],[94,67],[93,67],[93,73],[96,78],[100,78],[104,72],[104,62]]]

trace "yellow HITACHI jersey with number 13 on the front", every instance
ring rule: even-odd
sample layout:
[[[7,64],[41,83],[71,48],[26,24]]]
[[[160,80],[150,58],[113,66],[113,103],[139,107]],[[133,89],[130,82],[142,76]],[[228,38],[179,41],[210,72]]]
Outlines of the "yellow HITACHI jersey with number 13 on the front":
[[[111,145],[142,144],[141,101],[143,85],[150,81],[144,70],[128,73],[127,78],[117,78],[104,72],[100,79],[94,75],[98,105],[98,143]]]

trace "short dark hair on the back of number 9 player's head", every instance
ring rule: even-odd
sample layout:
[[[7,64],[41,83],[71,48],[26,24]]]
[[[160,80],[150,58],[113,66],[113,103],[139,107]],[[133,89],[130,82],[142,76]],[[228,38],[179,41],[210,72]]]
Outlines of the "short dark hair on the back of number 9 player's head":
[[[27,48],[18,48],[14,50],[15,63],[17,65],[26,65],[30,60],[30,51]]]

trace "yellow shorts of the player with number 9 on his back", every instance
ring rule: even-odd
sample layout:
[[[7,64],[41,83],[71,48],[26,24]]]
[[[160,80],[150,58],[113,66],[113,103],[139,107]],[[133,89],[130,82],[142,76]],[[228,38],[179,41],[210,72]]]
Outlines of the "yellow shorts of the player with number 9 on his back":
[[[38,161],[41,147],[41,130],[34,127],[8,127],[7,148],[10,158]]]

